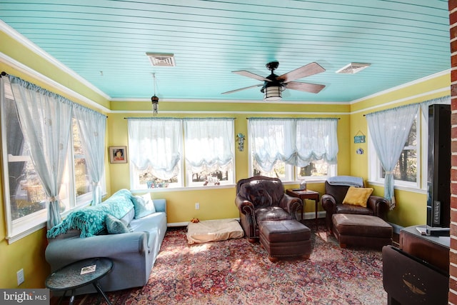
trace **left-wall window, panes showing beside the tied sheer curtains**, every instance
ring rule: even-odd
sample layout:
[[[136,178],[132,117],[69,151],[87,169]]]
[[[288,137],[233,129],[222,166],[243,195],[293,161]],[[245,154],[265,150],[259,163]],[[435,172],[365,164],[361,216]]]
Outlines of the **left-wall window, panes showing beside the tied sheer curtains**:
[[[14,96],[9,81],[2,78],[0,86],[4,99],[0,103],[3,172],[5,184],[4,203],[9,242],[26,236],[46,223],[46,194],[36,172],[30,148],[21,131]],[[61,213],[74,209],[91,200],[91,180],[87,178],[84,150],[81,146],[79,129],[73,121],[72,153],[67,156],[59,199]],[[83,197],[86,200],[83,200]]]

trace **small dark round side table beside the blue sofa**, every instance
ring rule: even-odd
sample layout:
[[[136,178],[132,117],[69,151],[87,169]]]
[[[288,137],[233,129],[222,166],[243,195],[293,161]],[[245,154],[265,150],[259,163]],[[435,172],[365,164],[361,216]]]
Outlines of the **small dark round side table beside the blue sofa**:
[[[99,279],[106,276],[106,274],[109,274],[111,269],[113,269],[113,261],[111,261],[111,259],[103,257],[83,259],[54,271],[47,277],[44,284],[46,288],[51,291],[64,291],[64,295],[61,296],[59,304],[62,299],[64,299],[66,291],[71,290],[70,305],[74,302],[75,289],[93,284],[96,291],[104,297],[106,303],[111,305],[108,297],[104,291],[101,290],[99,284]]]

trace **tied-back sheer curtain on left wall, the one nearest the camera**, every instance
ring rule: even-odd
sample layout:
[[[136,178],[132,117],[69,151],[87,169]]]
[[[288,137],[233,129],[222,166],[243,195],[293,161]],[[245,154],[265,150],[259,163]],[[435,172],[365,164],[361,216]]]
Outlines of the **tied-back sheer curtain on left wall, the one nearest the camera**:
[[[31,160],[48,197],[48,229],[61,222],[59,191],[69,147],[73,103],[9,76]]]

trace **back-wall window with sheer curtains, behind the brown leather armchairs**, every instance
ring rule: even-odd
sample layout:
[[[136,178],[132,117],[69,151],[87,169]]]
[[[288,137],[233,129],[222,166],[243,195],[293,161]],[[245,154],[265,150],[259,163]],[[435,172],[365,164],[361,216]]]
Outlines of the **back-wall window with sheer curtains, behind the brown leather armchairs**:
[[[336,119],[249,119],[251,175],[281,181],[335,176],[336,123]]]

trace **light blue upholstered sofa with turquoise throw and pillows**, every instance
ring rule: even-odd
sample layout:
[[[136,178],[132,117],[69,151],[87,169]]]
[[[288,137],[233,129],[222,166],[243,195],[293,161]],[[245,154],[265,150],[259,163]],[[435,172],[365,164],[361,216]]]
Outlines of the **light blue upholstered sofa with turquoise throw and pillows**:
[[[108,257],[114,266],[99,281],[104,291],[144,286],[167,223],[165,199],[148,204],[147,196],[122,189],[102,204],[74,211],[51,228],[46,247],[51,271],[81,259]],[[96,292],[92,285],[76,289],[75,294],[90,292]]]

